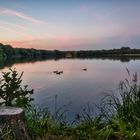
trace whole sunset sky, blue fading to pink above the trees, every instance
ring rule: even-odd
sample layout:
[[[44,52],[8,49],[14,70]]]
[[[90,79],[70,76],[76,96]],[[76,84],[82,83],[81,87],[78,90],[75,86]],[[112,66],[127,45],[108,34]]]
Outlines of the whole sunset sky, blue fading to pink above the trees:
[[[47,50],[140,48],[140,0],[0,0],[0,42]]]

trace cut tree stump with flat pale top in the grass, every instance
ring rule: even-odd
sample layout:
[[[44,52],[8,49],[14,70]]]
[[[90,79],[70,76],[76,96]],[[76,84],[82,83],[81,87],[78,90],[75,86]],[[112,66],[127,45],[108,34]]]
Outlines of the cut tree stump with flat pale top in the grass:
[[[17,107],[0,107],[0,128],[10,129],[16,140],[30,140],[24,124],[24,111]]]

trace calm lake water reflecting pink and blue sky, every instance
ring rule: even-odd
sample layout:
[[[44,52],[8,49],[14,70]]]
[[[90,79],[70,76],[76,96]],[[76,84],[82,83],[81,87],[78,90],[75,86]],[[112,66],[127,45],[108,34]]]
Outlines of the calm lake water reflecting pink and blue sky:
[[[100,104],[104,92],[115,91],[120,80],[127,77],[126,68],[132,73],[140,73],[140,60],[126,63],[113,60],[96,59],[62,59],[47,60],[35,63],[19,63],[12,66],[19,72],[24,71],[23,84],[35,89],[34,104],[41,107],[55,108],[69,104],[70,116],[80,112],[80,108],[88,103]],[[87,68],[87,71],[83,71]],[[0,71],[6,71],[7,67]],[[56,75],[55,70],[63,70]],[[94,112],[97,112],[93,105]]]

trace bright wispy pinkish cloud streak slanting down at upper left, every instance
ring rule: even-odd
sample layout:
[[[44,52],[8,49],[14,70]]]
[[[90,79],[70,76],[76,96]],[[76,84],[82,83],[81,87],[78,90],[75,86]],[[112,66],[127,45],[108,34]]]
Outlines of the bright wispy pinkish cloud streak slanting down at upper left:
[[[1,15],[8,15],[8,16],[16,16],[18,18],[21,18],[21,19],[24,19],[26,21],[30,21],[33,23],[37,23],[37,24],[47,23],[46,21],[35,19],[35,18],[28,16],[24,13],[21,13],[21,12],[15,11],[15,10],[11,10],[11,9],[2,9],[2,10],[0,10],[0,14]]]

